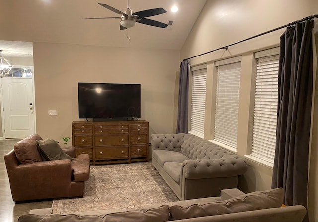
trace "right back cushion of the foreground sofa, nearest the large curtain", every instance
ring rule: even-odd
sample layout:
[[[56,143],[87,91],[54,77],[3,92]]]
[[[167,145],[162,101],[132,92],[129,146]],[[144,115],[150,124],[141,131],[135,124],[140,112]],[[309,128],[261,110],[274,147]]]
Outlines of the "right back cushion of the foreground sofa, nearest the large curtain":
[[[221,202],[193,204],[189,207],[175,205],[171,206],[169,211],[173,220],[253,211],[281,207],[283,196],[283,188],[276,188],[248,193]]]

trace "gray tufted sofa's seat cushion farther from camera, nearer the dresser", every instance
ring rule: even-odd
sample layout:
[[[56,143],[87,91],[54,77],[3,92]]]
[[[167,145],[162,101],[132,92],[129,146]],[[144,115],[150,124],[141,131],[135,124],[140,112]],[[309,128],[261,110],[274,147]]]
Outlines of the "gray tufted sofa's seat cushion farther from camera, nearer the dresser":
[[[153,150],[153,159],[156,159],[162,168],[165,162],[182,163],[185,160],[189,160],[188,157],[179,152],[168,150]]]

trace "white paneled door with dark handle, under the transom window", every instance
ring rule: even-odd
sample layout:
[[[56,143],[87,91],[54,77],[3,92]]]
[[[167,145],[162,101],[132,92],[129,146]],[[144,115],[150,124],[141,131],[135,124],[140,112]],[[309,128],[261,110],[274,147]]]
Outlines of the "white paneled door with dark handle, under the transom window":
[[[34,102],[31,78],[3,78],[3,136],[25,138],[34,134]]]

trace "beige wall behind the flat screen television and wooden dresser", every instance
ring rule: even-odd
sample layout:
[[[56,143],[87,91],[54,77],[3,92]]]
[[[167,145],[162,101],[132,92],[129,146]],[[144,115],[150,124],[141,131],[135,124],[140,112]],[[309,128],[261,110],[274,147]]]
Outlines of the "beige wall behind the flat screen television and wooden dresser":
[[[141,84],[141,119],[149,134],[175,127],[179,51],[33,43],[37,133],[62,141],[78,119],[78,82]],[[57,116],[48,116],[57,110]],[[71,141],[69,142],[71,144]]]

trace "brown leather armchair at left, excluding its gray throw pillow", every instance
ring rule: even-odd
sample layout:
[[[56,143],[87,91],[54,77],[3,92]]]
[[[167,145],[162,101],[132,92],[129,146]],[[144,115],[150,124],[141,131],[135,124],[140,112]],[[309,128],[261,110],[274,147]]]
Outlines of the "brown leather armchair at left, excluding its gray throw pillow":
[[[42,138],[38,134],[31,135],[4,155],[13,201],[82,197],[89,178],[89,155],[75,157],[74,147],[66,147],[62,150],[72,160],[43,161],[37,140]]]

